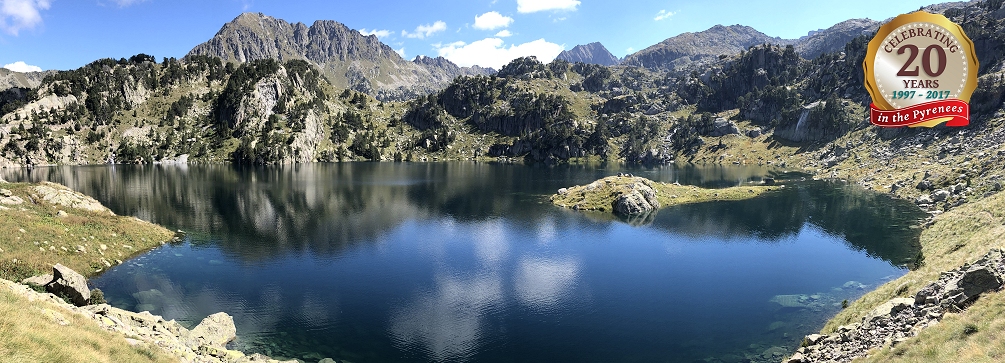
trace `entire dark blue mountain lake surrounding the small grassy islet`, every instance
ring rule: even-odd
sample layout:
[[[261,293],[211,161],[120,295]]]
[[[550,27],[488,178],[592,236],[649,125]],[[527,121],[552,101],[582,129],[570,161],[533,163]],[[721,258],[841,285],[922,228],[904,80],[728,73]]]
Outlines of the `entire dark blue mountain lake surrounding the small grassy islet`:
[[[735,186],[758,167],[485,163],[3,170],[188,232],[91,280],[110,304],[317,362],[778,361],[907,271],[924,217],[829,182],[622,220],[557,189],[630,172]]]

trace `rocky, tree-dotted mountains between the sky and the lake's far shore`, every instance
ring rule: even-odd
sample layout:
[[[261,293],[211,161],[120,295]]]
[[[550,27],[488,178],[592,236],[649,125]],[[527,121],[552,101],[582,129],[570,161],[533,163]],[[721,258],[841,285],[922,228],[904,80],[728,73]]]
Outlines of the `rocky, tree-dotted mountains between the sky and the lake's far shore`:
[[[1001,8],[938,6],[977,44],[974,115],[993,114],[1005,98]],[[336,21],[307,26],[246,13],[182,59],[137,54],[66,71],[0,71],[0,165],[182,155],[257,164],[663,163],[714,152],[706,139],[737,132],[828,142],[860,129],[855,120],[868,106],[860,64],[876,25],[853,19],[800,39],[719,25],[619,65],[598,64],[616,58],[591,43],[563,53],[565,61],[518,58],[496,72],[442,57],[409,61]],[[719,120],[726,116],[747,124]]]

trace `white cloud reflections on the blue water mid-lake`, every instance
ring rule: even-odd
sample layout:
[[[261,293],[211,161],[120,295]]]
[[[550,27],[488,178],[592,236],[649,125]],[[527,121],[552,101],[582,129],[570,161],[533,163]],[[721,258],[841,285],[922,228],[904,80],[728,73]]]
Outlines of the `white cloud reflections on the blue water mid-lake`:
[[[388,323],[396,347],[421,352],[436,362],[470,360],[486,340],[497,339],[491,338],[497,332],[489,333],[496,329],[491,327],[492,318],[506,311],[507,305],[516,302],[535,311],[553,309],[573,290],[580,275],[580,261],[571,256],[511,255],[513,243],[537,241],[540,231],[507,235],[514,229],[500,220],[454,226],[457,239],[451,243],[470,243],[480,263],[465,269],[441,261],[434,286],[392,309]]]

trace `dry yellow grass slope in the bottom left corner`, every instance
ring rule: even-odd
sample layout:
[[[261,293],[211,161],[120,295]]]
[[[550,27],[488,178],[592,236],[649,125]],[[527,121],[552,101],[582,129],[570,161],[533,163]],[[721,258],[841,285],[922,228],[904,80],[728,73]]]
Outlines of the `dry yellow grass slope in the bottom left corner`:
[[[159,348],[131,346],[86,317],[7,289],[0,289],[0,362],[177,361]]]

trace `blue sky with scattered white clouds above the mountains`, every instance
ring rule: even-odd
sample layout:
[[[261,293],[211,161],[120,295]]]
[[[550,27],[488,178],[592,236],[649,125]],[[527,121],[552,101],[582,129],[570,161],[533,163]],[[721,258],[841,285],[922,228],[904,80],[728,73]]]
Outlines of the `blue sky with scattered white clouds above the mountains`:
[[[936,0],[938,1],[938,0]],[[743,24],[798,38],[850,18],[883,20],[933,0],[726,1],[267,1],[0,0],[0,64],[72,69],[137,53],[182,57],[245,11],[289,22],[336,20],[377,34],[408,59],[443,55],[498,67],[600,41],[617,56],[685,31]],[[880,5],[881,4],[881,5]]]

